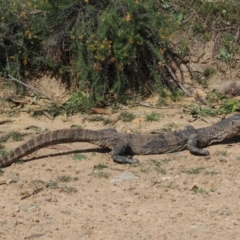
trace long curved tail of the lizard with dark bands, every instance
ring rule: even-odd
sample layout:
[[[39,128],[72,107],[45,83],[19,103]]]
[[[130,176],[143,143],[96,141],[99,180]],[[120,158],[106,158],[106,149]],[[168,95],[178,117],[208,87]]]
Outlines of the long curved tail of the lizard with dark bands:
[[[7,167],[22,157],[53,144],[102,141],[105,138],[104,135],[104,131],[85,129],[62,129],[43,133],[31,138],[23,145],[17,147],[13,152],[0,159],[0,168]]]

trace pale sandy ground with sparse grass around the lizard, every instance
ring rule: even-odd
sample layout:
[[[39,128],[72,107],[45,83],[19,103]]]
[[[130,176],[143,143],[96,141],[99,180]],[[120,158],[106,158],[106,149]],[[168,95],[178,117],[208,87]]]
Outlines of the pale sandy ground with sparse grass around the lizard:
[[[152,111],[161,114],[159,121],[145,121]],[[1,125],[1,136],[10,131],[28,134],[20,142],[4,143],[12,150],[36,134],[34,128],[26,129],[29,126],[55,130],[76,124],[144,134],[168,123],[182,129],[191,119],[179,107],[128,112],[136,113],[137,119],[113,126],[84,121],[87,116],[81,114],[53,121],[28,114],[0,115],[0,120],[11,120]],[[219,118],[207,121],[191,124],[209,126]],[[114,163],[109,151],[90,143],[41,149],[24,158],[35,160],[2,169],[0,181],[8,184],[0,185],[0,239],[240,239],[239,143],[208,150],[210,157],[187,150],[135,156],[141,163],[130,166]]]

